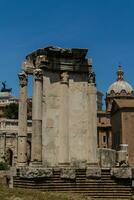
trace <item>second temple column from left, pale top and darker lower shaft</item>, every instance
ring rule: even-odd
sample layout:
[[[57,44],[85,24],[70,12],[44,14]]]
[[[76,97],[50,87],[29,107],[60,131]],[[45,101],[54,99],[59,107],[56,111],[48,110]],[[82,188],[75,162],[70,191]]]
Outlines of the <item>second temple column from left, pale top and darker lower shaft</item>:
[[[34,70],[32,99],[32,164],[42,162],[42,80],[41,69]]]

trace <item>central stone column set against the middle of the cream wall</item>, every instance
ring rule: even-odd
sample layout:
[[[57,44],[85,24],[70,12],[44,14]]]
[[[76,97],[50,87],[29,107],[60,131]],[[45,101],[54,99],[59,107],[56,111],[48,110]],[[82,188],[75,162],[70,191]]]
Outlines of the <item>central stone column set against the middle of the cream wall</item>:
[[[60,85],[60,124],[59,124],[59,164],[66,166],[69,163],[69,133],[68,133],[68,79],[67,72],[61,73]]]

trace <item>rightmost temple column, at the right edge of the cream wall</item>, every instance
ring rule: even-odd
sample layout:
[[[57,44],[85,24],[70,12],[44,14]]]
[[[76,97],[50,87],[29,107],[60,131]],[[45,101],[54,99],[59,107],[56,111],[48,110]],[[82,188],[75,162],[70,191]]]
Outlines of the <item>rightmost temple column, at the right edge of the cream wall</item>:
[[[97,106],[94,77],[88,83],[88,157],[89,165],[97,164]]]

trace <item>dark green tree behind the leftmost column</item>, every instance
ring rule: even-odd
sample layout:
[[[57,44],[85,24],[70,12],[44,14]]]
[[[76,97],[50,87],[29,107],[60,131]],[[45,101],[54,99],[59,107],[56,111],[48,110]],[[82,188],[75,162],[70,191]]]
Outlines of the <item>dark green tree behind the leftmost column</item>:
[[[4,108],[4,116],[8,119],[18,119],[18,104],[10,103]]]

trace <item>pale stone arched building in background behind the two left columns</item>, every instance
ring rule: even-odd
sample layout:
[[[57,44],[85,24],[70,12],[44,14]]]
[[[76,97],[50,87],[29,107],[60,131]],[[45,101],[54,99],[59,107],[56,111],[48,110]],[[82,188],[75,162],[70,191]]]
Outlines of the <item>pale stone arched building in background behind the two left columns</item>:
[[[4,82],[3,82],[4,83]],[[16,165],[18,144],[18,119],[7,119],[4,109],[11,103],[19,103],[18,98],[12,96],[12,90],[7,89],[5,83],[0,90],[0,161],[6,161],[9,165]],[[31,119],[31,99],[28,99],[28,119]],[[32,121],[28,120],[28,160],[30,159]]]

